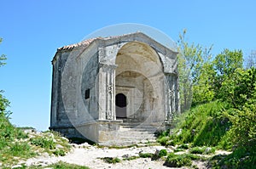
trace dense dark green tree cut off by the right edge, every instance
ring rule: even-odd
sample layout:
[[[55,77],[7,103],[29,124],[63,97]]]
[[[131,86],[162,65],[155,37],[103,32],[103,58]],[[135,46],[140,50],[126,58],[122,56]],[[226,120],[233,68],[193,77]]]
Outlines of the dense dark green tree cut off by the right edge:
[[[224,82],[222,93],[232,109],[226,114],[232,122],[231,141],[237,149],[256,151],[256,69],[237,69]]]

